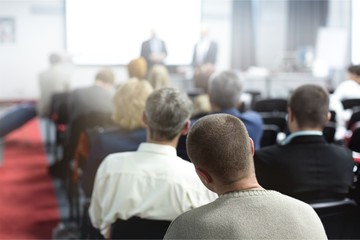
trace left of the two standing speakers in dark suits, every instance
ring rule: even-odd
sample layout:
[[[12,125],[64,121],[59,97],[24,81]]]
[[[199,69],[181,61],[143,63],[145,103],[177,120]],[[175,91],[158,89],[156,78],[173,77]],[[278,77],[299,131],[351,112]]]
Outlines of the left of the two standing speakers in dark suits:
[[[146,59],[148,69],[154,64],[164,64],[167,56],[166,44],[163,40],[159,39],[155,30],[151,31],[149,40],[141,44],[141,57]]]

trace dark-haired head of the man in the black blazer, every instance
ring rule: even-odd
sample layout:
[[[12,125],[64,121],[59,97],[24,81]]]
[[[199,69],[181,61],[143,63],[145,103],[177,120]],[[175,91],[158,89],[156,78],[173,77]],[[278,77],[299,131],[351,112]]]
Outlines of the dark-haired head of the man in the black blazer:
[[[315,84],[298,87],[288,101],[300,128],[322,129],[329,112],[329,94],[326,89]]]

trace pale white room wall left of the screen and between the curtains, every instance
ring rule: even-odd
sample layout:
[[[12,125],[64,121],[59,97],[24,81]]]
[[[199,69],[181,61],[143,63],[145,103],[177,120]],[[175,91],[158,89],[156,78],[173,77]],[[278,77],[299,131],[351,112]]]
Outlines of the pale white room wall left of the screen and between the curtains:
[[[281,61],[286,34],[286,1],[262,1],[256,42],[258,65],[274,68]],[[331,0],[331,2],[339,2]],[[63,0],[1,0],[0,17],[15,20],[15,42],[0,43],[0,100],[36,99],[38,73],[48,66],[52,51],[64,50]],[[230,67],[232,0],[203,0],[202,21],[219,43],[218,69]],[[338,10],[334,21],[342,19]],[[276,28],[272,22],[280,21]],[[342,21],[342,20],[341,20]],[[269,43],[272,43],[269,47]],[[98,66],[74,67],[72,87],[91,84]],[[127,78],[124,67],[114,66],[117,81]]]

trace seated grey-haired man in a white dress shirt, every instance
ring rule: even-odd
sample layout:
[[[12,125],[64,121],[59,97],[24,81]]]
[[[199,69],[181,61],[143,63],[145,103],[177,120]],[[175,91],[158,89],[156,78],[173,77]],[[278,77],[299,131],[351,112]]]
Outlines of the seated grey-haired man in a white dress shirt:
[[[175,219],[216,195],[176,156],[177,141],[190,127],[191,100],[174,88],[154,91],[145,105],[147,140],[135,152],[107,156],[96,173],[89,208],[92,225],[109,238],[117,218]]]

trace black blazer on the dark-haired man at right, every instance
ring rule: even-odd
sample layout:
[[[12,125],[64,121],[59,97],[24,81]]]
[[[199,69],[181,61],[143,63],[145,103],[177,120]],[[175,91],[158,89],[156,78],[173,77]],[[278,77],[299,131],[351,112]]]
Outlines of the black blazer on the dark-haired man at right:
[[[298,136],[259,149],[254,161],[262,187],[308,203],[346,197],[354,180],[352,152],[323,136]]]

